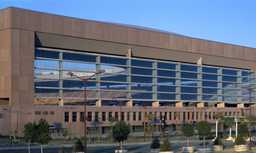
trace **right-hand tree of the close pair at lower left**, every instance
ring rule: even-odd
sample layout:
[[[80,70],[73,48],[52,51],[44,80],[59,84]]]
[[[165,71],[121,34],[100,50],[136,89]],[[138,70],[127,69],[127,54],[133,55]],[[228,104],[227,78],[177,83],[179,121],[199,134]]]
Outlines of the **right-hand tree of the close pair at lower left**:
[[[41,153],[42,153],[42,145],[48,144],[51,139],[50,132],[49,132],[49,124],[46,120],[40,119],[36,127],[37,127],[36,142],[41,144]]]

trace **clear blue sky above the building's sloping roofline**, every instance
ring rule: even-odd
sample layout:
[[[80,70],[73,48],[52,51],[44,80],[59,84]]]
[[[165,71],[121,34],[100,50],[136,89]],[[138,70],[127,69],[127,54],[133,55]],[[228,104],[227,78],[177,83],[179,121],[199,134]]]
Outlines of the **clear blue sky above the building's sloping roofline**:
[[[256,48],[255,0],[0,0],[10,6]]]

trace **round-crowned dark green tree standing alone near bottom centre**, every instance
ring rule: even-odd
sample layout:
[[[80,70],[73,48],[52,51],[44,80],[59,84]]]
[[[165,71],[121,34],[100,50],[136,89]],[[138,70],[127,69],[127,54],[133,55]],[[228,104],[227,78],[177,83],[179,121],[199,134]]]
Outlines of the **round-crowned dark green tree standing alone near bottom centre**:
[[[121,142],[127,139],[128,135],[131,133],[130,123],[125,123],[124,121],[117,122],[113,127],[112,135],[114,139],[119,142],[120,150],[122,149]]]

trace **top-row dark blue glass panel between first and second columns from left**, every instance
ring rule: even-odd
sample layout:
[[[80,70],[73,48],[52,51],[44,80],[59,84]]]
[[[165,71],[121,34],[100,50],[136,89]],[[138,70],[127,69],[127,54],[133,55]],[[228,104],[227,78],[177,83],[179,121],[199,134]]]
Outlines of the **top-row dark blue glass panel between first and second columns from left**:
[[[63,58],[63,60],[71,60],[71,61],[96,62],[96,56],[94,56],[94,55],[63,52],[62,58]]]

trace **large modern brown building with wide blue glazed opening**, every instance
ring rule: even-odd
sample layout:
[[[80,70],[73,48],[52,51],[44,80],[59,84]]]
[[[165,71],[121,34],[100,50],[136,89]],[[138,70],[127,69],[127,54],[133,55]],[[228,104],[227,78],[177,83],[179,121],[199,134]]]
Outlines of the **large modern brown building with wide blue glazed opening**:
[[[6,8],[0,10],[0,133],[20,136],[26,122],[45,114],[53,128],[81,134],[84,86],[68,72],[86,79],[100,69],[87,82],[88,128],[108,133],[113,116],[141,132],[144,112],[156,115],[156,131],[163,116],[167,131],[176,119],[215,123],[217,112],[248,114],[249,92],[234,84],[254,88],[255,64],[255,48]],[[251,101],[255,107],[255,90]]]

